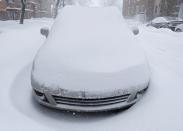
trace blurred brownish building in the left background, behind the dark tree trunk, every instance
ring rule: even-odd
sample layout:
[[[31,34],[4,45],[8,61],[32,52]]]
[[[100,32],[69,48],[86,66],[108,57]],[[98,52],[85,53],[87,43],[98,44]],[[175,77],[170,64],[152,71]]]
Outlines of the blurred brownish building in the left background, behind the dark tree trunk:
[[[51,17],[54,0],[27,0],[25,18]],[[18,20],[21,0],[0,0],[0,20]]]

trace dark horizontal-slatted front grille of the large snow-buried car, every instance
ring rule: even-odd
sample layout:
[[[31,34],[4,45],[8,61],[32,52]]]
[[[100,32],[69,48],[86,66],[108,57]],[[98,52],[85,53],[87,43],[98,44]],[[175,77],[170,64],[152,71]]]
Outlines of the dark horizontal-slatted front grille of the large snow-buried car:
[[[62,96],[53,96],[57,104],[77,105],[77,106],[103,106],[109,104],[116,104],[126,102],[130,94],[125,94],[115,97],[96,98],[96,99],[82,99],[82,98],[68,98]]]

